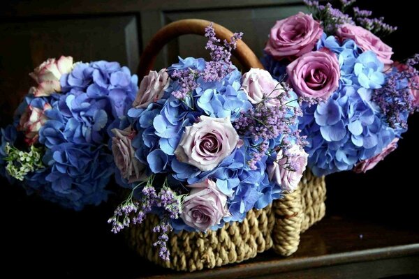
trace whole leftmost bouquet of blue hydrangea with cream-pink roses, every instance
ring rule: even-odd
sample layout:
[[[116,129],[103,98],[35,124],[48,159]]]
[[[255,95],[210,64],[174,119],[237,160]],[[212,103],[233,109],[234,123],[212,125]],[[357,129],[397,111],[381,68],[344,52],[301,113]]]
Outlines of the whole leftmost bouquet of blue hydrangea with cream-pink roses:
[[[80,210],[108,197],[107,128],[124,116],[138,78],[116,62],[48,59],[30,74],[12,125],[1,129],[0,173],[27,193]]]

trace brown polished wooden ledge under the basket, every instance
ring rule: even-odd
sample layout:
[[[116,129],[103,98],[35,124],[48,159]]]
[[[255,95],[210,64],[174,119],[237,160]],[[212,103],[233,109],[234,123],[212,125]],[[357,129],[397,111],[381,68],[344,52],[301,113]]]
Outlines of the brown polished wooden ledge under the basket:
[[[267,251],[242,264],[194,273],[153,266],[139,278],[385,278],[419,274],[419,233],[329,216],[302,234],[291,257]]]

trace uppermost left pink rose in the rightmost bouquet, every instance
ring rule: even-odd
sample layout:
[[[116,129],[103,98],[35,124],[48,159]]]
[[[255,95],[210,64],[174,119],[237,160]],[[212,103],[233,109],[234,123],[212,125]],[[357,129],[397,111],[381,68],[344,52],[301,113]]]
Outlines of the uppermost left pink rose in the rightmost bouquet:
[[[276,59],[301,56],[313,50],[322,33],[320,23],[300,12],[277,21],[270,31],[265,52]]]

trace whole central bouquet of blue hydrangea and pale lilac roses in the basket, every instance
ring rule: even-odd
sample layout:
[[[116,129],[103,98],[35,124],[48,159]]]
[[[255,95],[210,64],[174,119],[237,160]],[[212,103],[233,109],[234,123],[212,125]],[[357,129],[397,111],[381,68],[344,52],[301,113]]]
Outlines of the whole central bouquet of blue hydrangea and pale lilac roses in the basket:
[[[295,190],[307,165],[299,98],[265,70],[242,75],[233,66],[241,33],[220,44],[212,24],[205,31],[211,60],[179,58],[150,71],[126,119],[112,125],[117,180],[131,189],[109,220],[112,231],[158,216],[144,233],[159,235],[153,245],[164,261],[168,232],[242,222]]]

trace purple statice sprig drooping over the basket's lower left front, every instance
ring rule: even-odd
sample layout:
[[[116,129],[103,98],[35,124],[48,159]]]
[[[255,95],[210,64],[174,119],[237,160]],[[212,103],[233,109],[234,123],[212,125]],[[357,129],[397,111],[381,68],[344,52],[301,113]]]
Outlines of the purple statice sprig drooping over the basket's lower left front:
[[[168,232],[172,231],[170,220],[177,219],[182,213],[182,202],[186,195],[178,195],[168,186],[167,179],[163,183],[159,193],[153,186],[154,175],[149,176],[146,185],[141,190],[141,197],[136,201],[133,196],[143,183],[135,186],[127,199],[117,206],[114,216],[112,216],[108,223],[112,223],[111,231],[115,234],[120,232],[124,227],[133,225],[140,225],[147,214],[159,212],[161,221],[156,227],[152,229],[153,232],[159,233],[158,240],[153,243],[153,246],[160,246],[159,256],[164,261],[170,260],[170,251],[167,248]],[[122,220],[121,220],[122,218]]]

